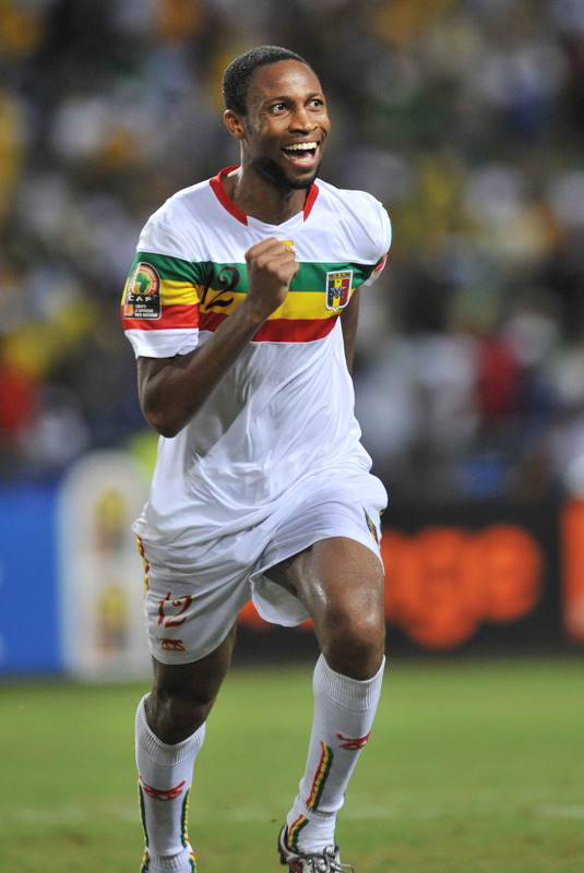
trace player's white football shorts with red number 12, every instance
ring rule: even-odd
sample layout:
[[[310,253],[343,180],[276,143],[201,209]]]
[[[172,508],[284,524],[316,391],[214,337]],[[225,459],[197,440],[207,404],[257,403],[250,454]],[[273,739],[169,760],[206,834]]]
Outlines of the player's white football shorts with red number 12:
[[[284,497],[263,522],[234,536],[180,550],[140,540],[146,632],[157,660],[188,663],[208,655],[250,599],[274,624],[291,626],[309,619],[300,600],[265,573],[319,540],[348,537],[381,561],[382,482],[362,471],[341,483],[321,485],[301,501]]]

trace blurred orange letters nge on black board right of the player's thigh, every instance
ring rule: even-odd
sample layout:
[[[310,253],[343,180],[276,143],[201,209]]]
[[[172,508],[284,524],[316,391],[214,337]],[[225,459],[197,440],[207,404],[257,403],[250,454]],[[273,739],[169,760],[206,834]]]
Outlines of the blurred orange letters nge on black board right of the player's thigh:
[[[482,622],[516,621],[541,595],[541,549],[515,525],[388,530],[381,551],[388,621],[427,648],[457,646]]]

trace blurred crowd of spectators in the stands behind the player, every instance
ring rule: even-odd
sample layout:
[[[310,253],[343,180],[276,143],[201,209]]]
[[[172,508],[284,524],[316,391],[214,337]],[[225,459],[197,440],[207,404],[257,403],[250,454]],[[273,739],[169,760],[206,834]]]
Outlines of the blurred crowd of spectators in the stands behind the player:
[[[0,0],[0,480],[143,433],[138,235],[237,163],[221,76],[259,44],[315,67],[323,177],[392,217],[355,370],[392,498],[579,490],[584,0]]]

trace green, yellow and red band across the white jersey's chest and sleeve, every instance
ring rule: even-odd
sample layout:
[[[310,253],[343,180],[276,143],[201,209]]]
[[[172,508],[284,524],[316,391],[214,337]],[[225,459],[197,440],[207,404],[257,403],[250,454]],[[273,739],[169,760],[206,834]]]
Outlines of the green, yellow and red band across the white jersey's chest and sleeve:
[[[300,263],[284,303],[270,315],[254,342],[302,343],[333,328],[355,289],[374,272],[359,263]],[[139,252],[121,301],[124,330],[214,332],[248,292],[246,264],[191,263]]]

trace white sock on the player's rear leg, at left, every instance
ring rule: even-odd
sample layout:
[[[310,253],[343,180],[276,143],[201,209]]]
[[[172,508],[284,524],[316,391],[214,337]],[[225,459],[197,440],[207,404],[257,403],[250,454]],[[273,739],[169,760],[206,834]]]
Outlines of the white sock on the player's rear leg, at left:
[[[189,842],[188,816],[192,768],[203,745],[205,726],[176,745],[160,742],[146,721],[145,697],[135,717],[135,760],[140,810],[146,838],[143,871],[191,873],[194,854]]]

